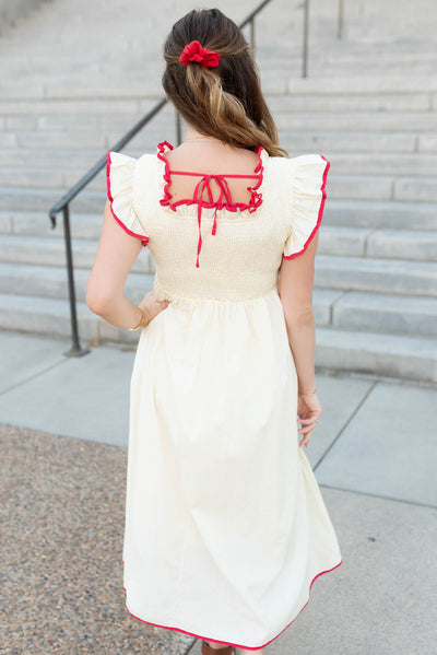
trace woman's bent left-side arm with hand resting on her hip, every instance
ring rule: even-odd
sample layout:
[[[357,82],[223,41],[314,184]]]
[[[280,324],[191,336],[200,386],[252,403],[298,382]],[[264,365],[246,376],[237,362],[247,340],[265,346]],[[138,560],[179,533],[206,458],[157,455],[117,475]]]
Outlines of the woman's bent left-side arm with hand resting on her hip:
[[[135,327],[141,318],[140,306],[152,320],[168,305],[168,302],[155,301],[150,292],[137,306],[123,293],[129,271],[142,247],[141,239],[125,232],[114,219],[107,200],[101,241],[86,283],[86,304],[94,314],[116,327]]]

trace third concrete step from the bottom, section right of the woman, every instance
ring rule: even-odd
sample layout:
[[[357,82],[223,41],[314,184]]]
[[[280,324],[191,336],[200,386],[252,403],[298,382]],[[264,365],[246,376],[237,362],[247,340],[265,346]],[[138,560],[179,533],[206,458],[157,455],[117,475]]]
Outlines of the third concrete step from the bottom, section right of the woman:
[[[318,255],[315,285],[437,297],[437,264]]]

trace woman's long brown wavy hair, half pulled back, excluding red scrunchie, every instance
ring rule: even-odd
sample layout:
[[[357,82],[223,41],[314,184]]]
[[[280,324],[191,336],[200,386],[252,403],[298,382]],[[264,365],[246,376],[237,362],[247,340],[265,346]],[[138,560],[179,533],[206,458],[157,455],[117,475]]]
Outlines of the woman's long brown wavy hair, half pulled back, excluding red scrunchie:
[[[221,56],[216,68],[179,62],[192,40]],[[190,11],[173,26],[164,58],[164,91],[199,132],[237,148],[262,145],[271,156],[287,156],[261,93],[250,46],[234,21],[218,9]]]

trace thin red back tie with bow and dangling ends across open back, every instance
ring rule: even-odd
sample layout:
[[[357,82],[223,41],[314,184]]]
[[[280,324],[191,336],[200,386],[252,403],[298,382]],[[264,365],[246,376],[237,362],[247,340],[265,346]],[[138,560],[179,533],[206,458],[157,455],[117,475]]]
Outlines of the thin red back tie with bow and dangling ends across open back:
[[[211,234],[215,234],[217,230],[217,209],[223,209],[226,206],[232,206],[233,200],[231,197],[231,190],[227,185],[225,177],[232,178],[241,178],[241,179],[259,179],[259,175],[204,175],[203,173],[187,173],[185,171],[168,171],[169,175],[192,175],[197,177],[201,177],[194,188],[194,194],[192,197],[193,202],[198,206],[198,225],[199,225],[199,242],[198,242],[198,258],[196,261],[197,268],[199,268],[199,255],[202,249],[202,208],[215,206],[214,211],[214,222],[212,225]],[[211,180],[214,180],[215,184],[220,188],[218,199],[214,202],[212,189],[211,189]],[[249,188],[250,190],[250,188]],[[204,195],[206,194],[206,198]]]

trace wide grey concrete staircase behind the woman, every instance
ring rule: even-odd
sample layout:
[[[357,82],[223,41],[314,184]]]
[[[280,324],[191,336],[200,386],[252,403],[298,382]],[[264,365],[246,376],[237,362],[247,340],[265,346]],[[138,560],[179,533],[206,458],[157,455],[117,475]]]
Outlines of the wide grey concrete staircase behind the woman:
[[[239,21],[253,4],[220,7]],[[302,79],[302,9],[273,0],[258,19],[257,59],[291,156],[331,162],[316,259],[317,365],[437,382],[436,8],[380,4],[345,3],[338,40],[338,2],[314,0]],[[162,40],[191,4],[167,1],[144,16],[141,8],[55,0],[0,39],[2,329],[70,334],[62,221],[50,230],[47,211],[162,95]],[[175,141],[169,107],[126,152],[155,152],[163,139]],[[84,302],[104,203],[102,174],[71,207],[81,338],[134,344],[138,335]],[[132,302],[153,271],[144,248],[126,286]]]

